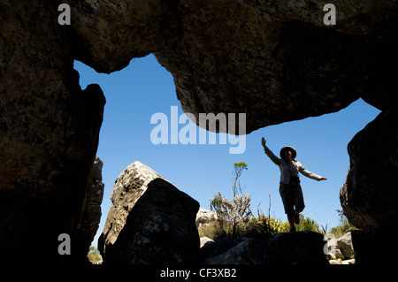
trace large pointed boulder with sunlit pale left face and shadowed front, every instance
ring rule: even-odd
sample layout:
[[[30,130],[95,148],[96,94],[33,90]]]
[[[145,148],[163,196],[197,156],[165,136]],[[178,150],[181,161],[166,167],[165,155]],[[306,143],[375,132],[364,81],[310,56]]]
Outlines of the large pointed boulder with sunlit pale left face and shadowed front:
[[[116,180],[98,248],[104,264],[195,263],[199,203],[135,162]]]

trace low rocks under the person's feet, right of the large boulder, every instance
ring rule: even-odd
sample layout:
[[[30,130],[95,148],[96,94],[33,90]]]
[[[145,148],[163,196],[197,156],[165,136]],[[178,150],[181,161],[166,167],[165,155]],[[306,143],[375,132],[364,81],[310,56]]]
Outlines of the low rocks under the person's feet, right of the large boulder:
[[[196,216],[196,226],[201,228],[203,225],[209,225],[217,220],[215,212],[210,210],[204,210],[201,208]],[[264,255],[268,252],[267,248],[262,246],[279,245],[279,241],[289,241],[287,245],[290,246],[302,246],[305,245],[306,241],[317,239],[317,235],[313,232],[287,232],[279,233],[268,242],[258,242],[249,238],[239,238],[231,241],[227,238],[214,242],[208,237],[201,237],[201,254],[203,255],[204,263],[255,263],[255,264],[268,264],[274,263],[269,260],[269,255]],[[318,236],[319,237],[319,236]],[[320,238],[320,237],[319,237]],[[301,241],[302,240],[302,241]],[[286,243],[284,243],[286,247]],[[309,252],[314,246],[307,246],[306,252]],[[351,232],[347,232],[341,238],[335,239],[332,234],[327,234],[323,237],[323,254],[330,264],[355,264],[356,263],[356,252],[352,244]],[[264,252],[264,254],[263,254]],[[280,248],[279,252],[285,254],[287,257],[300,256],[300,254],[292,254],[290,248]],[[301,254],[303,255],[303,254]],[[319,255],[319,254],[318,254]],[[267,260],[268,257],[268,260]],[[319,255],[319,261],[313,261],[311,263],[325,263],[321,260],[322,255]],[[297,260],[299,263],[303,261]],[[280,260],[279,263],[292,263],[288,259]],[[296,262],[293,262],[296,263]],[[305,262],[307,263],[307,262]]]

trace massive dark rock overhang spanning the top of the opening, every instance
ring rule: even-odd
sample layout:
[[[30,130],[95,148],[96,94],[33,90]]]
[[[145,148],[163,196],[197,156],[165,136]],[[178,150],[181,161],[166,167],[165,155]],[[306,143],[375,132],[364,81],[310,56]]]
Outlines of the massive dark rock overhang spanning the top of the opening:
[[[114,72],[151,52],[186,112],[247,113],[247,132],[394,100],[396,1],[65,1],[73,55]],[[393,71],[392,71],[393,70]],[[238,122],[238,121],[236,121]]]

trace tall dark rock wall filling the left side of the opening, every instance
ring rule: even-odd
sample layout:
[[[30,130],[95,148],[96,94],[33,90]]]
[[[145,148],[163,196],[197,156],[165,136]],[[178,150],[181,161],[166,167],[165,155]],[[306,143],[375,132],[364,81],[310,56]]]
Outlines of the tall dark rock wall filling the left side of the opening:
[[[57,5],[0,3],[0,261],[85,260],[82,232],[105,99],[82,90]],[[60,233],[72,255],[57,253]]]

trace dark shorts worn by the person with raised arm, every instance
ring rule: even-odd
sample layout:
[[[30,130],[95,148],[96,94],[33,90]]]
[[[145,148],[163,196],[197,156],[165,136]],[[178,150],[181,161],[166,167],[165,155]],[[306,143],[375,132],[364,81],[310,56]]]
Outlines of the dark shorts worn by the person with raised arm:
[[[304,210],[304,198],[302,197],[302,187],[300,185],[280,183],[279,194],[286,214],[291,214],[295,210]]]

